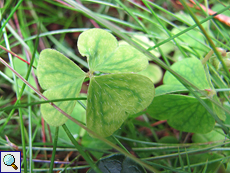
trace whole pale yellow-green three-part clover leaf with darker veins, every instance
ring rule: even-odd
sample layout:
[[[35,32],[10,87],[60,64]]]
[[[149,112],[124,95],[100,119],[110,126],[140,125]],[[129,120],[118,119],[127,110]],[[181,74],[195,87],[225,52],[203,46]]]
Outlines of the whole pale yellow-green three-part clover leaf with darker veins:
[[[78,39],[81,55],[87,57],[89,72],[84,73],[61,53],[43,50],[38,62],[38,80],[48,99],[77,97],[85,77],[90,78],[86,125],[103,137],[113,134],[130,114],[145,109],[153,100],[151,80],[133,72],[144,70],[148,59],[129,45],[118,46],[116,38],[102,29],[90,29]],[[104,74],[94,76],[95,71]],[[128,73],[129,72],[129,73]],[[76,101],[55,103],[71,114]],[[60,126],[67,118],[49,104],[41,105],[46,122]]]

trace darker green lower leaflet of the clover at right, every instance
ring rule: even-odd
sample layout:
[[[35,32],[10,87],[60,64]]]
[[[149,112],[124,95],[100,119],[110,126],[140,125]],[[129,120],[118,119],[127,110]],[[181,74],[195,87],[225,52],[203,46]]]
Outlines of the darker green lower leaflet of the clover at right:
[[[170,126],[185,132],[208,133],[215,125],[214,118],[196,98],[190,96],[155,97],[147,112],[153,118],[167,120]]]

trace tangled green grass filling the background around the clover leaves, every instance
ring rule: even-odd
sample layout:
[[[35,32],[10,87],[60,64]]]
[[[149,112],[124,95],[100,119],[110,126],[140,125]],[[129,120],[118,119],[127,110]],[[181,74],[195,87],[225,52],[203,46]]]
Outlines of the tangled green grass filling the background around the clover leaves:
[[[13,5],[12,2],[4,2],[0,10],[0,44],[31,64],[23,66],[22,71],[21,64],[14,61],[16,57],[0,49],[0,150],[22,151],[24,172],[84,172],[89,167],[100,172],[94,163],[103,156],[115,153],[130,157],[151,172],[230,171],[230,55],[226,60],[217,49],[230,50],[230,26],[203,10],[189,8],[185,0],[180,1],[184,8],[176,8],[169,0],[164,4],[159,0],[155,3],[146,0],[142,3],[131,0],[84,0],[81,4],[73,0],[27,0]],[[199,3],[230,17],[227,1],[204,0]],[[41,50],[54,48],[87,72],[88,64],[78,52],[77,40],[80,33],[95,27],[106,29],[119,40],[125,40],[160,66],[163,72],[173,74],[186,87],[186,94],[195,97],[215,119],[212,132],[179,131],[143,110],[129,116],[113,136],[102,138],[95,134],[97,138],[92,138],[84,123],[86,95],[73,98],[78,101],[78,113],[74,118],[79,121],[72,118],[73,122],[68,120],[63,127],[49,127],[42,120],[39,109],[48,101],[40,99],[43,90],[37,82],[36,68],[32,65],[37,67]],[[137,35],[148,38],[154,45],[144,47],[140,43],[146,41],[133,41],[132,38]],[[203,67],[210,88],[217,92],[213,97],[170,68],[170,65],[185,58],[202,61],[210,50],[214,54],[210,54]],[[6,67],[5,62],[10,67]],[[217,67],[216,64],[222,66]],[[6,68],[10,70],[7,72]],[[22,77],[29,79],[29,82],[22,82]],[[156,84],[161,85],[162,82]],[[86,93],[87,87],[85,81],[82,93]],[[204,98],[211,104],[207,104]],[[63,100],[52,100],[54,103],[58,101]],[[220,114],[226,115],[225,121]],[[69,160],[61,162],[67,155]]]

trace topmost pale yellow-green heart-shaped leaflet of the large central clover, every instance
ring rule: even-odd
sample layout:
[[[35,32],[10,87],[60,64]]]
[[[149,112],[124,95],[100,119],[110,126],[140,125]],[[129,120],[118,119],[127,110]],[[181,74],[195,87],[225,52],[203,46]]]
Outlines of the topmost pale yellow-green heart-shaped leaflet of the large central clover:
[[[86,56],[91,72],[139,72],[147,57],[130,45],[118,46],[116,38],[103,29],[89,29],[78,38],[78,50]]]

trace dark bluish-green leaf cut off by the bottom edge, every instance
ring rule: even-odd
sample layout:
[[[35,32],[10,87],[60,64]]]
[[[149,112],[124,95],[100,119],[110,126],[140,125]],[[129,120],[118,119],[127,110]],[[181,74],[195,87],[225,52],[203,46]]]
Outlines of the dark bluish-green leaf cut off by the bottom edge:
[[[144,168],[122,154],[114,154],[100,159],[96,165],[103,173],[146,173]],[[94,173],[90,169],[87,173]]]

